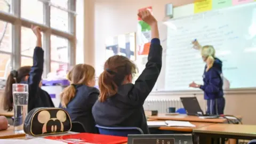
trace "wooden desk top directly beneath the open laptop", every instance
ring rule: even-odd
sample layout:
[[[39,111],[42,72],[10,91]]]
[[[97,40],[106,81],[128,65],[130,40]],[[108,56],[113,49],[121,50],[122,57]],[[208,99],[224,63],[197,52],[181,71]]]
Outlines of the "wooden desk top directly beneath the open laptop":
[[[162,120],[172,120],[172,121],[189,121],[189,122],[206,122],[206,123],[227,123],[227,119],[225,118],[199,118],[198,116],[188,116],[184,114],[180,115],[165,115],[158,114],[157,116],[150,116],[149,118],[153,119],[162,119]],[[242,118],[241,116],[237,116],[237,118]]]

